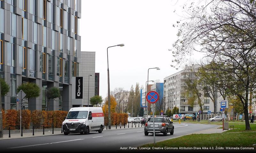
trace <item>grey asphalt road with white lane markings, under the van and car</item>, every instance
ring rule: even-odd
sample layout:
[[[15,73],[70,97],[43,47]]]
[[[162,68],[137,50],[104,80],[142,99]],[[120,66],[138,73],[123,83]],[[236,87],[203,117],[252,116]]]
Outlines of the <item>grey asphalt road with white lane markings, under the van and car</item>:
[[[215,128],[216,125],[206,124],[174,124],[174,135],[168,133],[156,134],[156,142],[188,135],[201,130]],[[153,135],[144,135],[143,128],[120,129],[103,131],[102,133],[90,132],[89,135],[69,134],[42,137],[0,140],[0,150],[8,152],[120,152],[127,151],[121,147],[138,147],[146,143],[153,143]],[[133,150],[130,150],[133,151]]]

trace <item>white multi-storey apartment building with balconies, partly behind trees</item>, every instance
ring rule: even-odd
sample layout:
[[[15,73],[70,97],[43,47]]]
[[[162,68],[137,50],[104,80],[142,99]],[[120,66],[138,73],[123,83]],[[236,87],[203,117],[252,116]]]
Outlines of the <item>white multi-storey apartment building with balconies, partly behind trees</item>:
[[[200,65],[193,65],[192,66],[185,66],[185,69],[170,75],[166,78],[164,78],[164,106],[169,108],[170,110],[173,110],[173,108],[176,106],[179,108],[179,112],[182,114],[185,113],[197,113],[199,112],[199,106],[195,102],[195,105],[193,107],[189,106],[188,99],[191,97],[192,93],[189,93],[187,96],[186,91],[184,90],[185,87],[185,80],[189,78],[195,79],[194,73],[191,69],[198,69]],[[199,88],[199,87],[198,87]],[[211,98],[209,95],[204,93],[201,89],[201,99],[203,103],[203,112],[207,113],[208,111],[211,111],[211,113],[214,112],[214,106]],[[217,102],[216,102],[216,112],[220,112],[220,100],[222,99],[220,94],[216,92],[217,95]]]

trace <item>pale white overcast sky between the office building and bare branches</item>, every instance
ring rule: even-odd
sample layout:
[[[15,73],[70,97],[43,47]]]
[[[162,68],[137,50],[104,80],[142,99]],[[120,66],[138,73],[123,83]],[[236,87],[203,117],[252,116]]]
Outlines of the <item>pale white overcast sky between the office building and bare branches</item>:
[[[99,93],[107,96],[107,47],[110,90],[130,90],[138,82],[145,88],[149,80],[164,78],[176,70],[172,64],[172,44],[177,29],[172,25],[182,16],[183,3],[177,0],[82,0],[80,19],[81,51],[96,52],[95,72],[100,73]],[[176,12],[174,12],[176,10]],[[195,53],[191,58],[200,59]],[[184,63],[185,65],[185,63]]]

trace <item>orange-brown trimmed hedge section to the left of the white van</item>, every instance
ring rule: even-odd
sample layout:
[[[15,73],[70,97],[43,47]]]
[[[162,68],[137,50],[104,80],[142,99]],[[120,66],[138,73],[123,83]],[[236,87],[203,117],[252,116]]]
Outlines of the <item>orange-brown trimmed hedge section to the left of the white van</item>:
[[[62,122],[66,118],[66,111],[41,111],[41,110],[22,110],[22,127],[29,129],[30,124],[35,128],[61,128]],[[3,128],[10,127],[12,130],[19,129],[20,126],[20,111],[18,110],[3,110]]]

